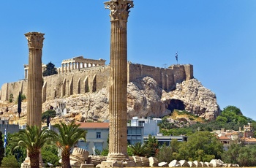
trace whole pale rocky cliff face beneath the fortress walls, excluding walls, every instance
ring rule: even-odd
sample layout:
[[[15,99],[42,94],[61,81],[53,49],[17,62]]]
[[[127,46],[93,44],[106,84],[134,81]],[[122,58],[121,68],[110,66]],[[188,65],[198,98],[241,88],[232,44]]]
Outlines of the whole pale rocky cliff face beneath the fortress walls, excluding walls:
[[[56,102],[64,103],[67,108],[66,115],[56,118],[76,121],[104,121],[109,119],[107,88],[102,88],[94,93],[81,93],[46,101],[42,105],[42,111],[48,110],[50,106],[56,107]],[[22,104],[22,108],[21,116],[26,117],[26,102]],[[208,120],[216,118],[220,112],[215,94],[203,87],[196,79],[177,83],[176,89],[170,92],[160,88],[151,77],[140,77],[128,84],[128,118],[132,118],[132,116],[158,118],[169,115],[174,109],[187,110]],[[9,114],[8,117],[15,121],[17,104],[1,104],[0,110],[3,112],[2,116]]]

